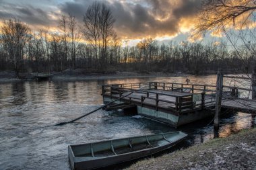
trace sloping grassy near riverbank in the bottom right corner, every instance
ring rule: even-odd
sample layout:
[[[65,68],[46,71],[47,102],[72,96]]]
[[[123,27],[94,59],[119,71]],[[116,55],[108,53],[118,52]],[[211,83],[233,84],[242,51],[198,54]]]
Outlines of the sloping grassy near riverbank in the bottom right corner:
[[[216,138],[161,157],[139,161],[127,169],[255,169],[256,128]]]

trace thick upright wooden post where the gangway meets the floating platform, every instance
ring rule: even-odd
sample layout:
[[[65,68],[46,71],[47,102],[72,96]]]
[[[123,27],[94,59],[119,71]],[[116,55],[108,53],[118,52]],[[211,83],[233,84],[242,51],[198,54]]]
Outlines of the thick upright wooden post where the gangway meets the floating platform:
[[[215,116],[214,116],[214,128],[219,128],[220,125],[220,109],[222,107],[222,89],[223,89],[223,73],[219,69],[217,73],[216,82],[216,99],[215,99]]]

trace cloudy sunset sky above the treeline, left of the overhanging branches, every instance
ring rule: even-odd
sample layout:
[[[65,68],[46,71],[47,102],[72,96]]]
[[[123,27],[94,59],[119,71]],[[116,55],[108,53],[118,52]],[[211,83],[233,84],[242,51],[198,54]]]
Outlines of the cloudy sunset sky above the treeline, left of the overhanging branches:
[[[160,42],[187,40],[196,22],[201,0],[98,0],[115,17],[115,32],[129,44],[143,38]],[[0,18],[17,18],[32,30],[46,28],[55,32],[61,15],[83,15],[94,0],[0,0]]]

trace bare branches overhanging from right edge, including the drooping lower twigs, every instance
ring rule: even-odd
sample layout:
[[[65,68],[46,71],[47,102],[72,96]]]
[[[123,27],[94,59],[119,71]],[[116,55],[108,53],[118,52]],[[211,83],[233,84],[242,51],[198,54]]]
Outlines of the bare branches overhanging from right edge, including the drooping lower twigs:
[[[248,73],[249,65],[244,56],[248,51],[256,55],[255,10],[254,0],[203,1],[193,36],[206,31],[225,34],[235,54],[243,61],[244,71]]]

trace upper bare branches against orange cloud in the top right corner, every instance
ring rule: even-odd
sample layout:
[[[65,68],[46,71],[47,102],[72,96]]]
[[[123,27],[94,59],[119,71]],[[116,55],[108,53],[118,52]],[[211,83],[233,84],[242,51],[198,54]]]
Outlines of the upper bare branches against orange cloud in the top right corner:
[[[256,3],[252,0],[203,1],[196,33],[206,30],[222,31],[223,28],[230,27],[230,24],[238,24],[237,22],[246,24],[247,19],[253,16],[255,9]]]

